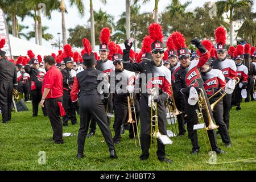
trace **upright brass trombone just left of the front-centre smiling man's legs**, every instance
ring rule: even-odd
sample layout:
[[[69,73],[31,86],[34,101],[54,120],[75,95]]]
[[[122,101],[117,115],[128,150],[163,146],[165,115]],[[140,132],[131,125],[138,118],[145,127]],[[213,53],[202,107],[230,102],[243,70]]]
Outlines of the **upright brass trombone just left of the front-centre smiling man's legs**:
[[[138,140],[139,140],[139,129],[138,129],[138,122],[137,122],[137,117],[136,117],[134,98],[133,98],[133,94],[132,93],[130,93],[130,96],[127,96],[127,105],[128,105],[128,121],[127,121],[126,124],[133,125],[134,141],[135,141],[135,146],[137,147],[135,130],[134,130],[134,123],[136,123],[136,126],[137,126]],[[131,108],[131,105],[133,106],[132,108]],[[135,121],[133,120],[131,112],[134,113]],[[141,146],[141,141],[140,140],[139,140],[139,146]]]

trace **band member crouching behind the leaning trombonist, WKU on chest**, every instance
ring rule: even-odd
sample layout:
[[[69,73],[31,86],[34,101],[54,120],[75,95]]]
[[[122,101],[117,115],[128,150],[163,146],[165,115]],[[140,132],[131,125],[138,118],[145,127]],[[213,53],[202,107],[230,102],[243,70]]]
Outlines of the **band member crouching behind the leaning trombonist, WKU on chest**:
[[[212,42],[210,42],[209,40],[204,40],[202,44],[205,47],[209,46],[209,48],[207,49],[211,49]],[[205,92],[207,93],[208,98],[212,96],[214,93],[216,93],[219,89],[224,89],[224,87],[226,86],[226,80],[223,73],[218,69],[212,69],[210,67],[211,61],[212,59],[208,59],[208,61],[200,68],[201,76],[204,80],[204,89]],[[213,104],[220,97],[221,93],[213,96],[209,100],[210,104]],[[218,129],[220,131],[222,142],[225,143],[226,147],[230,147],[232,144],[229,138],[229,131],[228,128],[226,127],[225,122],[223,121],[222,100],[218,102],[218,104],[214,107],[214,110],[212,112],[214,121],[219,126]]]

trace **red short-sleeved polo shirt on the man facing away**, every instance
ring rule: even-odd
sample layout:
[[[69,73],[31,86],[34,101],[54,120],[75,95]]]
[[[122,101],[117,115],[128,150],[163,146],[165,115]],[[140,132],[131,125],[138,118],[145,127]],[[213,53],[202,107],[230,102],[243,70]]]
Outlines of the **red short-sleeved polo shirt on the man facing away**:
[[[63,76],[60,70],[53,65],[44,75],[42,93],[44,88],[51,89],[46,98],[58,98],[63,96]]]

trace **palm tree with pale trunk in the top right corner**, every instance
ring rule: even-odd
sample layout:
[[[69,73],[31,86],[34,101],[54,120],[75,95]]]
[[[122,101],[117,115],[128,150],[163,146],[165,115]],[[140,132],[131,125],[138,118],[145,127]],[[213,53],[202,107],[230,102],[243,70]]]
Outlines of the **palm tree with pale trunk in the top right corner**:
[[[230,38],[230,46],[233,46],[233,16],[234,11],[238,10],[242,7],[251,6],[251,0],[226,0],[226,1],[218,1],[216,2],[218,15],[222,16],[222,14],[227,13],[226,17],[229,19],[229,38]],[[229,13],[229,15],[228,15]]]

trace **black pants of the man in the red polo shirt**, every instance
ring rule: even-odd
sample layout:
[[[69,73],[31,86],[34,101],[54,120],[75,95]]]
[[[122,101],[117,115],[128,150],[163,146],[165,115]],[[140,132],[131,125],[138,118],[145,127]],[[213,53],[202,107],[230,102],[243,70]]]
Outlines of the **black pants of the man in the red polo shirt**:
[[[52,125],[53,139],[55,143],[63,143],[62,138],[62,123],[60,119],[60,109],[58,102],[62,102],[62,97],[50,98],[46,100],[46,108],[49,117],[49,121]]]

